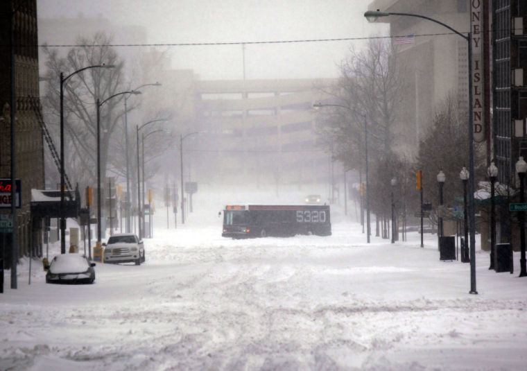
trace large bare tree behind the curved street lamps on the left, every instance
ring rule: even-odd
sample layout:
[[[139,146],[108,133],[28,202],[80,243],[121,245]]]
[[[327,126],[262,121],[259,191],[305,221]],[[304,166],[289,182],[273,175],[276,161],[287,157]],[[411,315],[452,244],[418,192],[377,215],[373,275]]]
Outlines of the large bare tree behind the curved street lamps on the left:
[[[123,61],[109,46],[110,37],[96,33],[92,39],[81,37],[65,57],[58,50],[44,48],[46,55],[46,87],[43,98],[46,121],[58,133],[60,123],[60,73],[64,76],[84,67],[112,64],[112,69],[92,68],[72,76],[64,83],[64,148],[65,169],[72,182],[94,185],[96,182],[96,101],[123,88]],[[112,135],[121,123],[124,113],[121,100],[116,96],[104,103],[101,113],[101,174],[106,174],[108,159],[115,156]],[[135,109],[135,105],[128,110]],[[50,130],[51,131],[51,130]],[[56,135],[55,137],[58,137]],[[55,141],[58,143],[58,140]]]

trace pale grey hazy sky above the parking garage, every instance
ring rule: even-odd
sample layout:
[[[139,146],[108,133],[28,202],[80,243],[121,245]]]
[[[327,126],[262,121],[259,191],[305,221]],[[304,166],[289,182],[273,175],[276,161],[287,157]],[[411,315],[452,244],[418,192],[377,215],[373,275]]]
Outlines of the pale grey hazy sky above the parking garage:
[[[386,34],[363,17],[370,0],[38,0],[39,17],[102,16],[146,28],[148,43],[261,42]],[[136,40],[126,43],[134,44]],[[336,77],[336,64],[363,41],[247,44],[251,78]],[[243,78],[241,45],[169,46],[173,69],[202,79]]]

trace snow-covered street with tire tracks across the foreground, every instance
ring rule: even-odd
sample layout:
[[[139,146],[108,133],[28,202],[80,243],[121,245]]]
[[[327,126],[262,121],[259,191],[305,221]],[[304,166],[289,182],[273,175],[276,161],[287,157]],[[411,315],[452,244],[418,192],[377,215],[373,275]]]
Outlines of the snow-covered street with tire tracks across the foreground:
[[[211,213],[214,214],[214,213]],[[0,370],[525,370],[526,279],[440,261],[437,236],[232,240],[221,221],[159,220],[141,266],[45,284],[35,260],[0,295]],[[163,212],[159,218],[162,218]],[[201,223],[193,223],[200,219]],[[54,252],[58,247],[54,246]]]

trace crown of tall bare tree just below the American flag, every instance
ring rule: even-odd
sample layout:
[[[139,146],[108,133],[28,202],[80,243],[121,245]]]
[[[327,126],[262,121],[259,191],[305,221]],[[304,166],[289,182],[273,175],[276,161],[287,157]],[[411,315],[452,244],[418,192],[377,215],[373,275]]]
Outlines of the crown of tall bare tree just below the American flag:
[[[365,131],[370,159],[392,153],[404,83],[397,54],[389,42],[374,39],[362,51],[350,49],[340,64],[338,83],[325,92],[328,104],[343,105],[325,110],[318,126],[321,137],[333,146],[336,159],[347,169],[364,164]]]

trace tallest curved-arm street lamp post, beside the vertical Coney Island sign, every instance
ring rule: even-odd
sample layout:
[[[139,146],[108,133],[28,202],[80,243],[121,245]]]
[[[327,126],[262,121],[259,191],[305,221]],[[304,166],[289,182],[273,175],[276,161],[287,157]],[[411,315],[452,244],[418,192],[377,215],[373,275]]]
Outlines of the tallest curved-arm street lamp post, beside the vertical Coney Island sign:
[[[433,21],[436,24],[448,28],[456,35],[463,37],[467,41],[467,51],[468,51],[468,78],[469,78],[469,120],[468,120],[468,130],[469,130],[469,223],[470,223],[470,291],[469,293],[476,295],[478,291],[476,290],[476,222],[474,216],[474,111],[473,111],[473,92],[472,92],[472,33],[469,32],[467,35],[463,35],[459,31],[456,31],[451,26],[444,24],[440,21],[437,21],[430,17],[425,17],[424,15],[416,15],[411,13],[399,13],[399,12],[380,12],[368,10],[364,13],[364,17],[368,21],[375,21],[379,17],[388,17],[389,15],[400,15],[404,17],[417,17],[422,19],[427,19]]]

